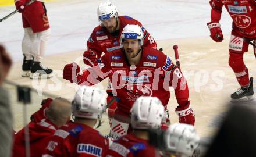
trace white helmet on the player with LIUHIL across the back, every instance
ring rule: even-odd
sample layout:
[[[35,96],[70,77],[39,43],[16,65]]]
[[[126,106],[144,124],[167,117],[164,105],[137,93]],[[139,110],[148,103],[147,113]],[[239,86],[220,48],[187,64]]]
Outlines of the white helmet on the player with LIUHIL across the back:
[[[92,86],[81,86],[72,102],[72,112],[75,117],[97,119],[105,107],[105,94],[99,88]]]

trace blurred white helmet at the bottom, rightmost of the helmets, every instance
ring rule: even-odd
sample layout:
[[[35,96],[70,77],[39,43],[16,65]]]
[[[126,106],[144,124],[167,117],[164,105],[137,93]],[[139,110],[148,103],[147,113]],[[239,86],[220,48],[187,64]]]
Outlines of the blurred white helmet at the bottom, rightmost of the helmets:
[[[172,124],[165,132],[166,151],[180,157],[199,156],[200,137],[195,127],[184,123]]]

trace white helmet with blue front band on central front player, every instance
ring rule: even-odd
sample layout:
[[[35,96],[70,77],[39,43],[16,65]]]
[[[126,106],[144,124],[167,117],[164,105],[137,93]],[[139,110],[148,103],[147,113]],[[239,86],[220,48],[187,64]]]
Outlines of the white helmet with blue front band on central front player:
[[[121,37],[120,37],[120,44],[123,47],[123,40],[125,39],[138,39],[140,40],[140,46],[143,45],[143,31],[141,30],[141,27],[137,24],[127,24],[122,31]]]

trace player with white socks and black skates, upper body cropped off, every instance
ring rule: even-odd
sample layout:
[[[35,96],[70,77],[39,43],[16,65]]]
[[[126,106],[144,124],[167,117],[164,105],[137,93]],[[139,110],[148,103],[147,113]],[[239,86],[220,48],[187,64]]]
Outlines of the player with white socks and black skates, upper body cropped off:
[[[51,34],[44,0],[15,0],[16,8],[22,13],[24,37],[22,52],[24,55],[22,76],[30,79],[48,79],[52,77],[52,69],[42,66],[46,44]]]

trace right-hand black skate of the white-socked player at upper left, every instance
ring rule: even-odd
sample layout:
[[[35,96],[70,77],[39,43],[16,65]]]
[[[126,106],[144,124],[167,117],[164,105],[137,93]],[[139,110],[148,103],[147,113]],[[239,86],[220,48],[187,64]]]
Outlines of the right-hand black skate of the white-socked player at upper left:
[[[33,62],[30,79],[49,79],[52,77],[52,69],[42,66],[41,62]]]

